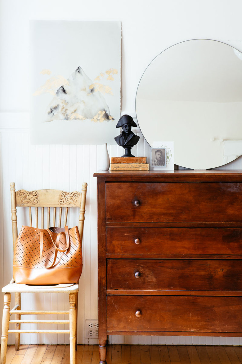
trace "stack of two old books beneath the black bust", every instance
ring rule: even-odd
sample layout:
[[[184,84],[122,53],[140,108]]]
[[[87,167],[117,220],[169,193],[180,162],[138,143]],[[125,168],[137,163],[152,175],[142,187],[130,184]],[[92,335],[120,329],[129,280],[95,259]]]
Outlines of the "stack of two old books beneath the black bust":
[[[146,157],[112,157],[110,171],[149,171]]]

